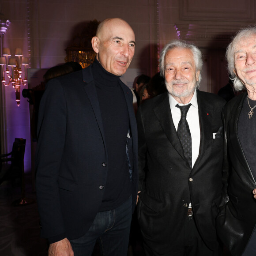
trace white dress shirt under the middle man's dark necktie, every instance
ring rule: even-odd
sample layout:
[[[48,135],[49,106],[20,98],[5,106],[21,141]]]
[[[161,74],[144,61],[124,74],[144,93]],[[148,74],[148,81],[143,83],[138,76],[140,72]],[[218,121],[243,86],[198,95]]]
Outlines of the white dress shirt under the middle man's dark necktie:
[[[173,124],[177,131],[179,121],[181,120],[181,110],[177,108],[176,105],[178,104],[180,106],[183,106],[184,104],[178,103],[176,99],[172,97],[171,94],[169,94],[169,102],[170,102],[170,108],[171,108],[172,117],[173,117]],[[187,122],[188,122],[189,130],[191,133],[191,140],[192,140],[192,168],[193,168],[199,154],[200,139],[201,139],[196,89],[190,102],[188,102],[185,105],[188,105],[189,103],[191,103],[191,106],[188,109]]]

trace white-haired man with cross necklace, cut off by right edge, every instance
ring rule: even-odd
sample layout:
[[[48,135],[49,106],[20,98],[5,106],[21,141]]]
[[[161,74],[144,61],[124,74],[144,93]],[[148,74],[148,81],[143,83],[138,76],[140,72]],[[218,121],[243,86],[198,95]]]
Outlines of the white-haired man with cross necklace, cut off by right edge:
[[[235,256],[256,255],[256,26],[240,30],[226,51],[234,89],[223,109],[224,184],[219,237]]]

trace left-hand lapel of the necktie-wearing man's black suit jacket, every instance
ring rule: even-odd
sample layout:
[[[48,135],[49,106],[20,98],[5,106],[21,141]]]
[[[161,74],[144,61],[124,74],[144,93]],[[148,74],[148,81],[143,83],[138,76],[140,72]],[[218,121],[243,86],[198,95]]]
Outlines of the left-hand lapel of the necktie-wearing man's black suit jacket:
[[[158,104],[154,107],[154,113],[165,132],[169,142],[173,145],[176,151],[181,155],[181,157],[188,162],[187,158],[184,156],[183,147],[181,141],[177,135],[176,128],[173,124],[172,112],[169,104],[168,93],[162,94],[162,97],[158,99]]]

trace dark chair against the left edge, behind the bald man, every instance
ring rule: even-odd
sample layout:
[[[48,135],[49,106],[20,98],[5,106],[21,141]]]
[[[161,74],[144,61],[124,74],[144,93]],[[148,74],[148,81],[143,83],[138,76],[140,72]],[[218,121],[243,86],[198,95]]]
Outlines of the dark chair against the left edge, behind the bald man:
[[[0,184],[11,180],[13,186],[21,186],[24,172],[26,139],[15,138],[12,151],[0,154]]]

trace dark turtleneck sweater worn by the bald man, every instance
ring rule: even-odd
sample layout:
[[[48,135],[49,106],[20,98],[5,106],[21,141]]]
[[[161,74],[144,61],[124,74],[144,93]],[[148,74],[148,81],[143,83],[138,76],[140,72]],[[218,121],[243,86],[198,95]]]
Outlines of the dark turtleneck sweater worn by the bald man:
[[[109,211],[120,206],[132,192],[126,157],[129,116],[119,76],[107,72],[96,59],[92,73],[108,154],[108,175],[99,211]]]

